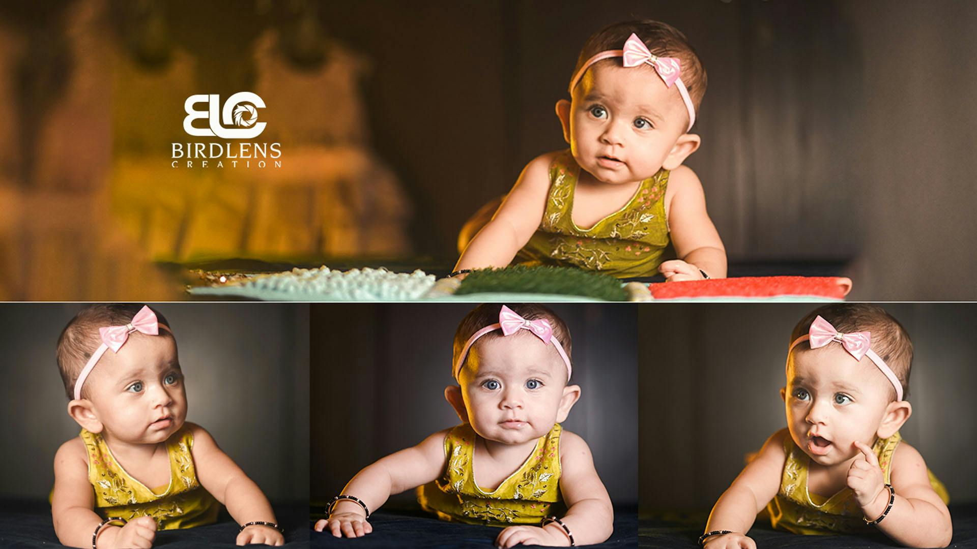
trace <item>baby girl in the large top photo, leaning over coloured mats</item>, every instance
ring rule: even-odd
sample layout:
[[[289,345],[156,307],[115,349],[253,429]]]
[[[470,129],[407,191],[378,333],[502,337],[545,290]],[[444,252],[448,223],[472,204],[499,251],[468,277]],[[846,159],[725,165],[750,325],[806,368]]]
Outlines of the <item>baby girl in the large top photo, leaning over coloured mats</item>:
[[[453,274],[515,259],[618,277],[725,276],[701,183],[682,165],[701,142],[689,132],[705,93],[685,35],[658,21],[612,24],[584,44],[569,91],[556,114],[570,150],[532,159],[501,205],[466,224]],[[662,263],[669,241],[680,259]]]

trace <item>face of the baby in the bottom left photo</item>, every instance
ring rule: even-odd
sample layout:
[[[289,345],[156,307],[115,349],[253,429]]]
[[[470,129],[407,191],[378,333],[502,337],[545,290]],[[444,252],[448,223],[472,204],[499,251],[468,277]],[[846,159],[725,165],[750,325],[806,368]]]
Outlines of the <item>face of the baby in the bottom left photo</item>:
[[[162,443],[187,419],[187,393],[169,336],[129,336],[107,351],[89,378],[90,401],[104,434],[125,443]]]

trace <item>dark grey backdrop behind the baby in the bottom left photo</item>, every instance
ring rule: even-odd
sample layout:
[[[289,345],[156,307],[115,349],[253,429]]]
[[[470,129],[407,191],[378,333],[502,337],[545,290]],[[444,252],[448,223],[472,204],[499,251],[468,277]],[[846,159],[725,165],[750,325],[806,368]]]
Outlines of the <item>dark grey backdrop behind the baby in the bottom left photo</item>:
[[[82,307],[0,305],[0,499],[46,501],[55,452],[81,430],[65,411],[55,349],[64,325]],[[187,420],[207,429],[273,503],[308,501],[308,306],[152,307],[176,335],[187,379]]]

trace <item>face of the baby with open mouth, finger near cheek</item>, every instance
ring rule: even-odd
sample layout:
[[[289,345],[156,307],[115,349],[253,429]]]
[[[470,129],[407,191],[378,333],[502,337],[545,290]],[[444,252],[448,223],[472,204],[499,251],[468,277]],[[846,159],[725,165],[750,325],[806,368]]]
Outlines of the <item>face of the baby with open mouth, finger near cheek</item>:
[[[840,345],[792,352],[785,392],[790,437],[821,465],[854,458],[855,441],[874,442],[889,387],[871,359],[857,362]]]

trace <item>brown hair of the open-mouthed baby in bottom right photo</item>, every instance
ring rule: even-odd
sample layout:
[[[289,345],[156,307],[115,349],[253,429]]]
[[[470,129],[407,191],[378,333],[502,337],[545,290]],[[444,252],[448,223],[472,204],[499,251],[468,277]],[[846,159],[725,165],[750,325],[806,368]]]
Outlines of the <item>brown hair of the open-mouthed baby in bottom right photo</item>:
[[[913,341],[906,328],[881,307],[867,303],[836,303],[808,313],[794,326],[790,341],[806,334],[815,317],[824,317],[841,333],[871,332],[871,350],[896,374],[903,386],[903,399],[910,393],[910,370],[913,368]],[[810,349],[807,342],[798,345]],[[896,399],[895,387],[889,387],[890,400]]]

